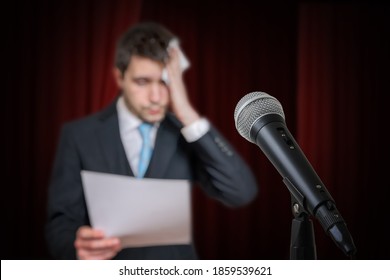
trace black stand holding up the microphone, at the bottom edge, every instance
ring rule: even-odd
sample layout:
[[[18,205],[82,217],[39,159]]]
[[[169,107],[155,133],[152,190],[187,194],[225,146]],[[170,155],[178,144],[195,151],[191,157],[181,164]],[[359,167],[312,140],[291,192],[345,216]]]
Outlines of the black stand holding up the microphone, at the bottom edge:
[[[316,260],[313,222],[303,206],[293,196],[291,196],[291,207],[294,218],[291,224],[290,259]]]

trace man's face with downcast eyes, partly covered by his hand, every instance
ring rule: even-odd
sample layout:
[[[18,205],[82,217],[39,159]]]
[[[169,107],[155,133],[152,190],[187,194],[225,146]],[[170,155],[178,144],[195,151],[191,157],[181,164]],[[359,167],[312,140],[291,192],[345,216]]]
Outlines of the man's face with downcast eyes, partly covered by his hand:
[[[149,58],[133,56],[124,75],[115,76],[127,108],[147,122],[161,121],[169,104],[169,91],[161,79],[164,65]]]

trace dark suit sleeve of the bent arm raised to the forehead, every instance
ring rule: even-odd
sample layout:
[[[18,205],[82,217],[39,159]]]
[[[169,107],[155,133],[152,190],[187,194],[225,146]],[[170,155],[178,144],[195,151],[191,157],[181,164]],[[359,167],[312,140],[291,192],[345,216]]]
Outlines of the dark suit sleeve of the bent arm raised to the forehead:
[[[253,172],[215,127],[190,145],[195,152],[197,180],[208,195],[231,207],[254,200],[258,186]]]

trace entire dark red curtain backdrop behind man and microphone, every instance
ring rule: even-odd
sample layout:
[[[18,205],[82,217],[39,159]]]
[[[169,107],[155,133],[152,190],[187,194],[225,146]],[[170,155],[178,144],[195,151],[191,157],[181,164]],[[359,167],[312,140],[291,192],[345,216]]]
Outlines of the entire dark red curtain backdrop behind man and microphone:
[[[232,142],[260,186],[229,209],[194,191],[202,259],[288,259],[290,194],[254,144],[235,129],[238,100],[278,98],[286,123],[346,220],[358,259],[389,259],[386,101],[389,5],[306,1],[18,1],[2,14],[5,179],[2,259],[50,259],[47,188],[61,125],[116,95],[116,38],[159,21],[191,61],[190,98]],[[346,259],[317,221],[318,259]]]

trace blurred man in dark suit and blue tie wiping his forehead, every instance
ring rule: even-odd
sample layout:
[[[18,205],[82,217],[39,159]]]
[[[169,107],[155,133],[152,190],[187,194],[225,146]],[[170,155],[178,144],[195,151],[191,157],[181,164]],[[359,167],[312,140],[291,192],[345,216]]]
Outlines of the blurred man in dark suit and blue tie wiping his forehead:
[[[64,125],[49,189],[46,237],[53,258],[197,258],[193,244],[123,248],[118,237],[92,228],[82,170],[186,179],[230,207],[255,198],[257,184],[247,164],[189,101],[183,53],[172,45],[177,40],[157,23],[132,26],[117,43],[118,97],[101,112]],[[141,124],[149,127],[152,148],[146,171],[139,169]]]

